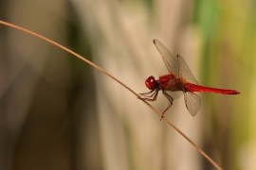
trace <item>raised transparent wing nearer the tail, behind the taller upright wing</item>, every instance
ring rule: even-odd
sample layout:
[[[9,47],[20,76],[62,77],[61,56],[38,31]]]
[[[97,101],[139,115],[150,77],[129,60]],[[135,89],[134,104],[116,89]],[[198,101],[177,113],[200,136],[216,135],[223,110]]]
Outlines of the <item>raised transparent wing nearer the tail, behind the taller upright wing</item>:
[[[192,71],[186,61],[179,55],[177,55],[178,65],[179,65],[179,77],[184,77],[187,81],[192,84],[198,84],[195,77],[192,75]]]

